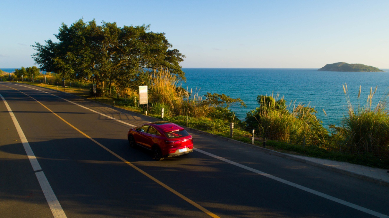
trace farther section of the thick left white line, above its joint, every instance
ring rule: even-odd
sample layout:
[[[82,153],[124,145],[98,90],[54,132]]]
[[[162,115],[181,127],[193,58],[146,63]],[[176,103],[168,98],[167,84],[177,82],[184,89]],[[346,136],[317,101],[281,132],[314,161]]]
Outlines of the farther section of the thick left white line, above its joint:
[[[7,110],[8,110],[8,112],[9,112],[9,114],[11,115],[12,121],[14,122],[14,125],[15,125],[15,127],[16,127],[16,131],[18,131],[20,141],[22,142],[23,147],[25,148],[27,157],[28,157],[28,159],[30,160],[32,169],[33,169],[34,171],[42,170],[42,168],[40,168],[40,165],[39,165],[39,163],[38,163],[37,157],[35,157],[34,152],[32,152],[32,149],[31,149],[31,147],[30,147],[30,144],[28,143],[28,141],[27,141],[27,139],[26,139],[26,136],[24,135],[24,133],[23,133],[23,131],[22,131],[22,128],[21,128],[20,125],[19,125],[18,120],[16,119],[16,117],[15,117],[15,115],[14,115],[14,112],[12,112],[11,107],[9,107],[9,105],[8,105],[7,101],[4,99],[3,95],[0,94],[0,97],[1,97],[1,99],[3,100],[3,102],[4,102],[4,104],[5,104],[5,107],[7,107]]]

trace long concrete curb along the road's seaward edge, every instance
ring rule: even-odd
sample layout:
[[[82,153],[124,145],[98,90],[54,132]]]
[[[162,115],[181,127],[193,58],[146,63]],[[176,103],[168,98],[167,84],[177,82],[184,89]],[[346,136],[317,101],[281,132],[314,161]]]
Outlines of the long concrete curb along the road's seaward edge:
[[[24,84],[24,85],[29,85],[29,84]],[[115,106],[112,106],[112,105],[109,105],[109,104],[98,102],[98,101],[95,101],[93,99],[87,99],[85,97],[74,95],[72,93],[62,92],[60,90],[55,90],[55,89],[46,88],[46,87],[41,87],[41,88],[45,88],[45,89],[48,89],[48,90],[54,90],[54,91],[61,92],[61,93],[66,93],[66,94],[72,95],[74,97],[79,97],[79,98],[84,99],[84,100],[95,102],[95,103],[100,104],[100,105],[105,106],[105,107],[110,107],[112,109],[115,109],[116,111],[120,111],[120,112],[124,112],[124,113],[130,113],[130,114],[131,113],[135,113],[137,116],[139,116],[141,118],[144,118],[144,119],[152,119],[152,120],[155,120],[155,121],[161,121],[161,119],[158,119],[158,118],[154,118],[154,117],[151,117],[151,116],[146,116],[146,115],[140,114],[138,112],[128,111],[126,109],[122,109],[122,108],[115,107]],[[232,138],[226,138],[226,137],[223,137],[223,136],[207,133],[207,132],[202,131],[202,130],[196,130],[196,129],[193,129],[193,128],[190,128],[190,127],[186,127],[186,126],[182,126],[182,127],[185,128],[186,130],[194,131],[194,132],[202,134],[202,135],[207,135],[207,136],[210,136],[210,137],[218,138],[220,140],[230,141],[230,142],[234,142],[236,144],[244,145],[244,146],[251,147],[251,148],[254,148],[254,149],[259,149],[262,152],[265,152],[267,154],[273,154],[275,156],[284,157],[286,159],[291,159],[291,160],[298,161],[298,162],[301,162],[301,163],[305,163],[305,164],[308,164],[308,165],[311,165],[311,166],[323,168],[323,169],[326,169],[326,170],[331,170],[331,171],[334,171],[336,173],[342,173],[344,175],[352,176],[352,177],[355,177],[355,178],[359,178],[361,180],[366,180],[368,182],[373,182],[373,183],[376,183],[376,184],[379,184],[379,185],[383,185],[383,186],[389,187],[389,182],[386,182],[386,181],[383,181],[383,180],[380,180],[380,179],[377,179],[377,178],[361,175],[361,174],[358,174],[358,173],[354,173],[354,172],[350,172],[350,171],[347,171],[347,170],[339,169],[339,168],[336,168],[336,167],[333,167],[333,166],[327,166],[327,165],[324,165],[324,164],[315,163],[313,161],[308,161],[306,159],[298,158],[298,157],[295,157],[295,156],[291,156],[289,154],[281,153],[281,152],[278,152],[278,151],[273,151],[273,150],[266,149],[266,148],[263,148],[263,147],[259,147],[259,146],[256,146],[256,145],[252,145],[252,144],[247,144],[245,142],[240,142],[240,141],[232,139]]]

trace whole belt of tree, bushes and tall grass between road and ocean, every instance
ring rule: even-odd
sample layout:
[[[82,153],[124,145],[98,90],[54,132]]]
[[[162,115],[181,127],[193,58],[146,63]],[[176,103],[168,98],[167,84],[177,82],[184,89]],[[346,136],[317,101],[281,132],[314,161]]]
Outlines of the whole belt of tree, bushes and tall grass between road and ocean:
[[[178,50],[170,50],[163,33],[148,32],[148,26],[124,26],[79,20],[70,27],[63,24],[56,35],[58,42],[36,43],[33,55],[37,67],[21,67],[12,74],[12,80],[47,79],[48,87],[77,90],[83,97],[93,98],[92,84],[98,87],[96,100],[131,111],[142,111],[138,104],[138,86],[147,85],[148,115],[180,125],[231,137],[277,151],[298,152],[312,157],[387,168],[389,165],[389,115],[386,93],[377,107],[371,107],[373,90],[365,106],[354,109],[350,104],[347,85],[344,87],[347,115],[340,126],[324,128],[316,117],[316,109],[295,104],[276,95],[258,95],[258,107],[238,118],[230,107],[246,107],[237,98],[182,87],[185,80],[180,62],[185,57]],[[8,79],[8,78],[6,78]],[[65,79],[65,81],[63,81]],[[42,85],[42,84],[41,84]],[[76,88],[77,87],[77,88]],[[359,100],[360,93],[358,95]],[[323,110],[324,111],[324,110]],[[324,111],[325,113],[325,111]]]

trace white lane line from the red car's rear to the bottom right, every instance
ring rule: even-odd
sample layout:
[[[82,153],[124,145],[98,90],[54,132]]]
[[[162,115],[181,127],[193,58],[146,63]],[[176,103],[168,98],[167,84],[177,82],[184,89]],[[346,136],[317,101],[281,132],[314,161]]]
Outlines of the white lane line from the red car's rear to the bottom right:
[[[384,215],[384,214],[382,214],[382,213],[378,213],[378,212],[376,212],[376,211],[372,211],[372,210],[370,210],[370,209],[367,209],[367,208],[358,206],[358,205],[356,205],[356,204],[352,204],[352,203],[350,203],[350,202],[343,201],[343,200],[338,199],[338,198],[336,198],[336,197],[329,196],[328,194],[324,194],[324,193],[322,193],[322,192],[315,191],[315,190],[313,190],[313,189],[304,187],[304,186],[302,186],[302,185],[298,185],[298,184],[296,184],[296,183],[289,182],[289,181],[284,180],[284,179],[282,179],[282,178],[279,178],[279,177],[277,177],[277,176],[273,176],[273,175],[270,175],[270,174],[268,174],[268,173],[265,173],[265,172],[262,172],[262,171],[253,169],[253,168],[248,167],[248,166],[245,166],[245,165],[243,165],[243,164],[239,164],[239,163],[236,163],[236,162],[234,162],[234,161],[230,161],[230,160],[228,160],[228,159],[225,159],[225,158],[223,158],[223,157],[219,157],[219,156],[214,155],[214,154],[211,154],[211,153],[209,153],[209,152],[202,151],[202,150],[197,149],[197,148],[193,148],[193,149],[195,149],[195,151],[198,151],[198,152],[200,152],[200,153],[202,153],[202,154],[208,155],[208,156],[210,156],[210,157],[214,157],[214,158],[219,159],[219,160],[221,160],[221,161],[224,161],[224,162],[226,162],[226,163],[229,163],[229,164],[238,166],[238,167],[240,167],[240,168],[243,168],[243,169],[245,169],[245,170],[249,170],[249,171],[254,172],[254,173],[258,173],[259,175],[266,176],[267,178],[271,178],[271,179],[276,180],[276,181],[278,181],[278,182],[282,182],[282,183],[284,183],[284,184],[286,184],[286,185],[290,185],[290,186],[292,186],[292,187],[295,187],[295,188],[304,190],[304,191],[309,192],[309,193],[312,193],[312,194],[314,194],[314,195],[317,195],[317,196],[320,196],[320,197],[324,197],[325,199],[328,199],[328,200],[331,200],[331,201],[335,201],[335,202],[337,202],[337,203],[339,203],[339,204],[343,204],[343,205],[348,206],[348,207],[350,207],[350,208],[354,208],[354,209],[357,209],[357,210],[359,210],[359,211],[363,211],[363,212],[368,213],[368,214],[370,214],[370,215],[377,216],[377,217],[386,217],[386,218],[389,217],[389,216]]]

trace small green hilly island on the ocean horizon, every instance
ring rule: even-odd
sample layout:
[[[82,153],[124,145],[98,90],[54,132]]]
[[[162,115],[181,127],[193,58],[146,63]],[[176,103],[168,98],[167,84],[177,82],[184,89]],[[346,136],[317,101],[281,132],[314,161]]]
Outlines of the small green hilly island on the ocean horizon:
[[[339,72],[384,72],[377,67],[367,66],[364,64],[347,64],[346,62],[326,64],[326,66],[318,70]]]

